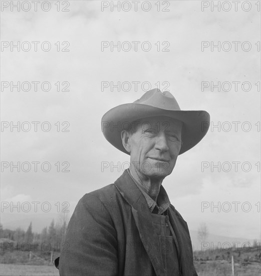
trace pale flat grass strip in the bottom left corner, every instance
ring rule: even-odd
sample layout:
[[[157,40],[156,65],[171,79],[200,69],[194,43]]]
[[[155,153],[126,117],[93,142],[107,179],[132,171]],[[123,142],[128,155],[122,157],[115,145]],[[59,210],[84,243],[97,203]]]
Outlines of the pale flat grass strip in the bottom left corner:
[[[1,276],[59,276],[54,265],[0,264]]]

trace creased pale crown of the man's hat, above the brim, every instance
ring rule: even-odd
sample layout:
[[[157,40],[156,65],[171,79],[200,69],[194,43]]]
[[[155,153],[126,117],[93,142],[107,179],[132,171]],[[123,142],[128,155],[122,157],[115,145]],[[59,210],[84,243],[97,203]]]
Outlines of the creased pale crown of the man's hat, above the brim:
[[[170,92],[161,92],[157,88],[147,91],[140,99],[134,101],[134,103],[146,104],[166,110],[180,110],[175,97]]]

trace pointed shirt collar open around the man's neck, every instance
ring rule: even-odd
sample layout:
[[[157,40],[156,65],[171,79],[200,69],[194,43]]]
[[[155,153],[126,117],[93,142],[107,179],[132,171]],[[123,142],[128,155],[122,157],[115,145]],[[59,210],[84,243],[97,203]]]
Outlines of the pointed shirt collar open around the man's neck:
[[[159,188],[159,194],[157,198],[157,203],[147,194],[147,192],[142,188],[140,184],[136,182],[136,180],[131,176],[129,169],[126,170],[129,174],[129,176],[132,178],[134,183],[138,186],[140,191],[142,192],[143,196],[145,197],[145,200],[149,206],[149,210],[152,213],[156,213],[161,215],[163,212],[165,212],[169,206],[170,206],[170,201],[167,195],[167,192],[163,188],[162,185],[160,185]]]

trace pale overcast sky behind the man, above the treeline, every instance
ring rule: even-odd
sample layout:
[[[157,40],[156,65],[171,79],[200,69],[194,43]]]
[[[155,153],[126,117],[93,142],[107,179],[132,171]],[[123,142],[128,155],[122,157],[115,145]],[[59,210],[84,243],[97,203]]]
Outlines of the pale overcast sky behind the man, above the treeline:
[[[4,2],[2,6],[8,5]],[[151,1],[151,7],[148,2],[137,3],[135,12],[134,4],[128,5],[131,2],[120,6],[120,11],[117,8],[111,11],[111,6],[106,8],[111,1],[103,4],[65,1],[64,5],[60,2],[58,12],[56,1],[49,3],[51,6],[46,4],[43,9],[50,11],[43,11],[41,5],[34,11],[33,4],[28,12],[23,11],[30,8],[26,5],[20,7],[20,12],[15,7],[2,7],[1,201],[5,208],[1,210],[1,223],[4,228],[26,229],[32,221],[33,230],[41,231],[53,218],[59,218],[68,203],[66,210],[71,216],[85,193],[113,183],[127,168],[121,164],[128,162],[129,156],[105,140],[101,118],[110,108],[133,102],[149,86],[156,88],[160,84],[161,90],[169,90],[175,96],[181,109],[206,110],[211,119],[204,139],[178,158],[173,173],[163,181],[171,203],[191,230],[205,222],[213,234],[259,239],[258,6],[254,2],[251,7],[242,6],[240,2],[237,11],[234,6],[228,11],[228,4],[222,5],[220,11],[213,7],[211,11],[212,1],[160,4]],[[128,8],[130,11],[126,12]],[[28,43],[23,44],[25,41]],[[140,42],[136,51],[132,41]],[[218,41],[220,48],[211,49]],[[18,42],[20,46],[12,48],[12,43]],[[120,42],[119,51],[117,47],[111,49],[112,42],[114,45]],[[127,51],[129,45],[131,49]],[[151,50],[147,51],[149,45]],[[27,51],[29,46],[31,50]],[[12,87],[18,81],[20,91]],[[37,81],[40,83],[34,91]],[[27,82],[32,86],[29,91],[26,91]],[[50,91],[43,91],[41,85],[48,90],[48,82]],[[57,91],[58,82],[60,91]],[[114,85],[120,82],[120,91],[111,82]],[[216,86],[211,87],[211,82],[213,85],[219,82],[220,91]],[[30,124],[23,124],[26,121]],[[40,122],[37,131],[33,121]],[[20,131],[11,128],[12,122],[20,122]],[[31,130],[26,131],[29,125]],[[51,129],[43,131],[41,126]],[[20,172],[16,167],[11,168],[18,162]],[[31,170],[28,163],[22,167],[23,162],[30,163]],[[32,162],[40,162],[37,172],[36,163]],[[48,163],[43,165],[44,162]],[[111,167],[118,162],[119,169]],[[51,169],[44,172],[41,165],[48,170],[48,164]],[[102,171],[102,164],[108,168]],[[211,168],[211,164],[220,164],[220,171]],[[62,169],[69,172],[61,172]],[[26,212],[25,202],[30,203],[30,212]],[[32,202],[40,202],[36,212]],[[49,205],[43,205],[44,202]],[[218,202],[220,210],[211,209]],[[20,204],[20,212],[12,204]],[[41,206],[51,210],[44,212]]]

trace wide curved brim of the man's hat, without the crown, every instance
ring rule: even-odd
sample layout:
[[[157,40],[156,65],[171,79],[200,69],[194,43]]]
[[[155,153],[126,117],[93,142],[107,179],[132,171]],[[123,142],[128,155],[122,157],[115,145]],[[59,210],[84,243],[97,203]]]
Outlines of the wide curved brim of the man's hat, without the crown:
[[[179,155],[193,148],[205,136],[210,122],[208,112],[204,110],[167,110],[140,103],[118,105],[102,117],[102,132],[115,148],[130,155],[123,147],[121,131],[128,123],[137,119],[167,116],[183,122],[182,146]]]

